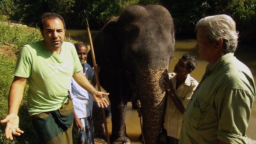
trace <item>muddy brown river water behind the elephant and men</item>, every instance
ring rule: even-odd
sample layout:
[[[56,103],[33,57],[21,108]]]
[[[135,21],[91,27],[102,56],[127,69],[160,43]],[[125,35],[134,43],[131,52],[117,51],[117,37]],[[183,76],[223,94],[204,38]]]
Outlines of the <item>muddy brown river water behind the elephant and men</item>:
[[[97,35],[98,31],[90,31],[92,35],[92,39]],[[73,38],[76,41],[83,41],[85,44],[90,46],[88,42],[88,34],[87,30],[66,30],[66,36]],[[181,56],[185,54],[190,54],[197,60],[197,68],[192,71],[190,74],[193,78],[195,78],[198,82],[200,82],[204,72],[205,66],[207,65],[207,61],[203,61],[200,59],[197,49],[194,48],[197,40],[196,39],[185,39],[185,40],[176,40],[175,42],[175,54],[170,61],[169,72],[173,72],[175,64],[181,58]],[[251,47],[251,48],[249,48]],[[251,72],[253,73],[254,82],[256,81],[256,52],[253,51],[252,45],[243,45],[238,47],[235,56],[237,59],[246,64]],[[97,62],[97,58],[96,58]],[[111,120],[110,124],[108,124],[109,135],[111,134]],[[132,144],[142,144],[142,142],[138,141],[138,137],[141,134],[140,127],[140,119],[137,116],[137,110],[132,109],[132,105],[129,102],[127,105],[127,111],[125,116],[125,124],[127,129],[127,134],[131,139]],[[249,126],[246,132],[246,135],[250,139],[256,140],[256,102],[253,104],[253,110],[251,112],[251,119],[249,122]]]

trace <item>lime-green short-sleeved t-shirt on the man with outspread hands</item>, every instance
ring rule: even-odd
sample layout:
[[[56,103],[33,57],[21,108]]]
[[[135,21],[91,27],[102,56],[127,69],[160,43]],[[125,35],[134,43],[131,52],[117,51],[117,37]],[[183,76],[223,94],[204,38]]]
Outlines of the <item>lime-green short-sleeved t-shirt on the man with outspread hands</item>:
[[[29,115],[60,108],[67,99],[73,73],[81,69],[70,42],[63,42],[60,54],[49,51],[43,41],[25,45],[18,54],[14,75],[27,78]]]

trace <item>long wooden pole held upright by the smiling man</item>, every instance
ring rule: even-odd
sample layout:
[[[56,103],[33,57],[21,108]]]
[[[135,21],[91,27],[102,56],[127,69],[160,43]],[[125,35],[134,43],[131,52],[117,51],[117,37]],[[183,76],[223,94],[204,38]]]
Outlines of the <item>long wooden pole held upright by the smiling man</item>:
[[[84,10],[84,12],[85,12],[85,10]],[[94,50],[93,50],[93,45],[92,45],[92,37],[91,37],[91,33],[90,33],[90,28],[89,28],[86,12],[85,12],[85,19],[86,19],[86,28],[87,28],[87,32],[88,32],[88,37],[89,37],[89,41],[90,41],[90,49],[91,49],[91,54],[92,54],[93,66],[96,66],[96,60],[95,60],[95,55],[94,55]],[[95,73],[95,78],[96,78],[96,81],[97,81],[98,91],[101,91],[100,80],[99,80],[99,77],[98,77],[98,73]],[[108,131],[108,126],[107,126],[107,121],[106,121],[106,116],[105,116],[104,108],[101,108],[101,111],[102,111],[102,117],[103,117],[103,121],[104,121],[104,127],[105,127],[105,132],[106,132],[106,137],[107,137],[107,143],[110,144],[110,141],[109,141],[109,131]]]

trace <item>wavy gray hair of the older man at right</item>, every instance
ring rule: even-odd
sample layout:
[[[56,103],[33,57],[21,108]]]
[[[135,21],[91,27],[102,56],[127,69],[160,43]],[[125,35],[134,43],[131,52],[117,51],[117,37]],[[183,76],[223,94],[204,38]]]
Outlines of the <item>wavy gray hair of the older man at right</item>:
[[[236,22],[228,15],[213,15],[205,17],[195,25],[195,33],[200,27],[205,27],[209,42],[223,40],[224,53],[234,53],[237,48],[238,31]]]

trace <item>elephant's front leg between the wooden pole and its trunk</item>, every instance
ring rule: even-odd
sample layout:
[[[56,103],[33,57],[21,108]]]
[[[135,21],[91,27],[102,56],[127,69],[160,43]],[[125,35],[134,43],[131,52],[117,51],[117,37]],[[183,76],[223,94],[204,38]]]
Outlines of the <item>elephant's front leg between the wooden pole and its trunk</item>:
[[[125,110],[127,102],[117,102],[116,99],[109,98],[111,103],[111,121],[112,121],[112,134],[110,136],[111,144],[127,144],[130,142],[125,130]]]

